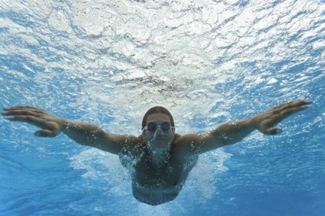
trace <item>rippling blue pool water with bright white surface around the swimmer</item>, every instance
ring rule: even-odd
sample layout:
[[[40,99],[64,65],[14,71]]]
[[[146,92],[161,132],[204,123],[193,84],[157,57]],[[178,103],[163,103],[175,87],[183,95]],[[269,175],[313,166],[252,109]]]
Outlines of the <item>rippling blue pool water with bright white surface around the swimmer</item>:
[[[118,157],[0,118],[0,215],[324,215],[323,1],[0,2],[0,108],[180,134],[309,98],[279,127],[200,155],[168,203],[136,201]]]

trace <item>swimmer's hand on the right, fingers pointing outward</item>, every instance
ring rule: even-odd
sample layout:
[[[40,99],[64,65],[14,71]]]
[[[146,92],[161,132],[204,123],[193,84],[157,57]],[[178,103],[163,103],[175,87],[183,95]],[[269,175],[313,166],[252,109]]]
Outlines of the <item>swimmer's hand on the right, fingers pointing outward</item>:
[[[310,100],[293,100],[287,103],[282,103],[273,107],[272,109],[266,111],[265,113],[254,116],[251,119],[254,127],[262,132],[263,134],[273,135],[278,134],[282,130],[275,128],[274,126],[277,123],[280,123],[288,116],[297,113],[301,110],[307,108],[307,105],[310,104]]]

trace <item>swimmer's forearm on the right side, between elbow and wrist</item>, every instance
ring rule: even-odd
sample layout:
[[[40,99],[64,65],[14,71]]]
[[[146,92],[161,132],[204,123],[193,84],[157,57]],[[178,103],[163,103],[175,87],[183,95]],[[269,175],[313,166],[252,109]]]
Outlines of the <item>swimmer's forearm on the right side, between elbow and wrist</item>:
[[[220,125],[212,133],[224,145],[230,145],[243,140],[256,129],[251,119],[229,122]]]

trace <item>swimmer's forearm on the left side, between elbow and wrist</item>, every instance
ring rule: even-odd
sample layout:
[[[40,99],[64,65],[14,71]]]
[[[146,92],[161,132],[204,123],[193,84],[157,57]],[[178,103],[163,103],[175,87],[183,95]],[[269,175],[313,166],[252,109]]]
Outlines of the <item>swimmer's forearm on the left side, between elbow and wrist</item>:
[[[105,132],[96,125],[64,120],[62,132],[81,145],[96,146],[104,139]]]

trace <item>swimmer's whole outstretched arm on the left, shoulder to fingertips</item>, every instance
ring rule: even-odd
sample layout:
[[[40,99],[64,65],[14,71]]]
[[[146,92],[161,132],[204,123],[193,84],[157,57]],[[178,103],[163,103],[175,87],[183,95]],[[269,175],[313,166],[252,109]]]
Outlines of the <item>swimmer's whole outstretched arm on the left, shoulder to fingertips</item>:
[[[4,108],[4,111],[1,114],[10,116],[7,118],[10,121],[27,122],[42,128],[34,133],[35,136],[56,137],[63,132],[81,145],[99,148],[113,154],[118,154],[121,151],[126,140],[132,140],[132,136],[108,133],[98,126],[52,116],[31,106],[12,106]]]

